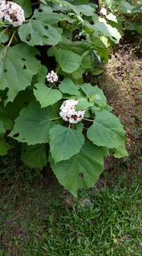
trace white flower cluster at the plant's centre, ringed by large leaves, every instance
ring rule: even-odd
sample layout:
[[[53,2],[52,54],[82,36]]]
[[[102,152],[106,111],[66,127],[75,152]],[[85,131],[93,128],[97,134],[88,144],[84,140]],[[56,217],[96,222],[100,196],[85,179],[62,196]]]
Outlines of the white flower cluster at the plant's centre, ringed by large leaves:
[[[78,100],[65,100],[60,107],[61,112],[59,113],[62,119],[70,122],[71,124],[81,122],[84,117],[85,111],[76,111],[77,104]]]

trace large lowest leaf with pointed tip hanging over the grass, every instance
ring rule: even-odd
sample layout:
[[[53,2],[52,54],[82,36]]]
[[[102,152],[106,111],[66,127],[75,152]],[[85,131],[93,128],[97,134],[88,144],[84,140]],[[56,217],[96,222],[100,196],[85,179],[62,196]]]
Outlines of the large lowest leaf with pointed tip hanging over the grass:
[[[105,151],[87,142],[81,151],[71,159],[54,164],[52,170],[61,185],[77,196],[78,188],[90,188],[95,185],[103,171]]]

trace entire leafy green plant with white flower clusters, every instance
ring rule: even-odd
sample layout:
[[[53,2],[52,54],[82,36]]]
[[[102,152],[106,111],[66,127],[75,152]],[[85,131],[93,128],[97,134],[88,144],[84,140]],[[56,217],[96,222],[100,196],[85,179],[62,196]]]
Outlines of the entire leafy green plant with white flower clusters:
[[[102,73],[121,35],[88,0],[15,2],[25,18],[18,20],[14,6],[0,13],[0,155],[13,138],[25,164],[42,169],[49,162],[77,196],[95,184],[104,157],[127,155],[124,128],[104,93],[83,80]]]

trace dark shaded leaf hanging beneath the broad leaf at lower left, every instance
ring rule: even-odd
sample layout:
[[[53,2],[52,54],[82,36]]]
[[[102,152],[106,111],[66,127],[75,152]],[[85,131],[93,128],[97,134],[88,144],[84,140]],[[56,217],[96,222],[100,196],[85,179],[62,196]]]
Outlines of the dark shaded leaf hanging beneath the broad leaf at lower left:
[[[47,164],[45,144],[22,145],[21,160],[30,168],[42,169]]]

